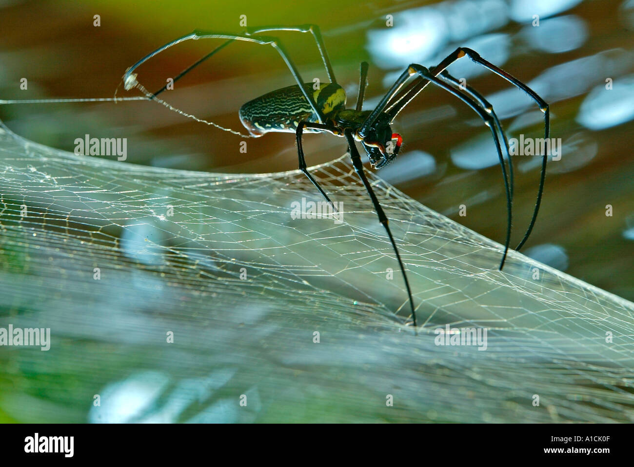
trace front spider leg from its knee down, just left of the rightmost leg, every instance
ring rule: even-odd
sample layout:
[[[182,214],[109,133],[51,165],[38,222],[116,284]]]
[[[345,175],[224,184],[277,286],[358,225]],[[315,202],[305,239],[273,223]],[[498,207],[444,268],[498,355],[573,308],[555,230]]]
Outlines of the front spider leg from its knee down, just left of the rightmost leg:
[[[454,96],[458,97],[458,99],[463,101],[465,104],[469,105],[470,108],[474,109],[475,112],[478,115],[480,115],[482,120],[484,120],[484,123],[489,128],[491,128],[491,134],[493,135],[493,140],[495,141],[495,147],[498,152],[498,158],[500,159],[500,166],[502,168],[502,175],[504,178],[504,186],[507,192],[507,238],[504,244],[504,254],[502,255],[502,259],[500,261],[500,270],[501,270],[504,266],[505,260],[507,259],[508,245],[510,244],[510,233],[511,233],[511,223],[512,223],[512,204],[511,204],[510,187],[508,186],[506,164],[504,163],[504,157],[502,155],[502,150],[500,147],[500,139],[498,138],[498,134],[496,132],[493,116],[486,111],[486,108],[484,109],[481,108],[481,106],[477,103],[477,101],[473,97],[465,96],[464,94],[462,94],[462,92],[460,92],[460,90],[451,87],[450,84],[447,84],[441,78],[438,78],[432,75],[432,73],[429,70],[427,70],[427,68],[425,68],[424,66],[412,63],[410,66],[408,66],[405,73],[410,73],[410,75],[418,73],[418,75],[421,75],[422,77],[427,78],[427,80],[429,80],[430,82],[433,82],[437,86],[443,88],[444,90],[447,90]]]

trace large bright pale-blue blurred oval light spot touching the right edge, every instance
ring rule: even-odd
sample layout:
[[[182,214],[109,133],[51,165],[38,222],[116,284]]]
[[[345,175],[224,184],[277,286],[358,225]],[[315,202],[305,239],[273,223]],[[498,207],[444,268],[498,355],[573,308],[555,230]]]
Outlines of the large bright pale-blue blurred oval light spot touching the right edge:
[[[583,100],[576,120],[590,130],[614,127],[634,118],[634,75],[600,84]]]

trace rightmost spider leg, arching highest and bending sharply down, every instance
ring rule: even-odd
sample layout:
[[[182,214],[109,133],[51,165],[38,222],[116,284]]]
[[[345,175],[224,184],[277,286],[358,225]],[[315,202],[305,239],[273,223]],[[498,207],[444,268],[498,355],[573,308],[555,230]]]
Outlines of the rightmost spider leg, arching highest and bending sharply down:
[[[538,94],[536,92],[534,92],[534,90],[529,88],[526,84],[522,83],[520,80],[515,78],[513,75],[511,75],[510,73],[505,72],[504,70],[502,70],[498,66],[493,65],[493,63],[485,60],[484,58],[482,58],[480,56],[480,54],[478,54],[474,50],[469,49],[467,47],[458,47],[447,58],[445,58],[443,61],[441,61],[441,63],[439,65],[434,67],[430,71],[430,73],[432,73],[432,75],[439,75],[439,73],[443,72],[443,70],[445,68],[447,68],[448,66],[450,66],[451,63],[455,62],[457,59],[462,58],[465,55],[468,56],[470,59],[472,59],[472,61],[474,61],[475,63],[484,66],[484,68],[487,68],[488,70],[490,70],[491,72],[493,72],[496,75],[500,76],[501,78],[504,78],[505,80],[510,82],[510,84],[512,84],[515,87],[521,89],[529,97],[531,97],[531,99],[533,99],[533,101],[535,101],[535,103],[538,104],[538,106],[540,107],[540,110],[544,113],[544,135],[545,135],[544,137],[545,137],[545,139],[549,139],[550,138],[550,107],[548,106],[546,101],[544,101],[540,96],[538,96]],[[415,96],[417,96],[417,94],[421,90],[425,89],[427,84],[429,84],[429,82],[427,80],[423,80],[420,83],[414,84],[409,89],[407,89],[403,94],[401,94],[401,96],[398,97],[393,104],[391,104],[391,106],[388,109],[388,114],[392,116],[392,120],[411,101],[411,99],[413,99]],[[394,94],[396,94],[396,93],[394,93]],[[393,95],[392,95],[392,97],[393,97]],[[368,125],[368,128],[369,128],[369,125]],[[541,160],[540,186],[539,186],[538,191],[537,191],[537,201],[535,202],[535,208],[533,210],[533,216],[531,217],[531,222],[530,222],[528,228],[526,229],[526,234],[524,234],[524,238],[522,239],[521,242],[519,242],[519,244],[517,245],[517,248],[515,248],[517,251],[519,251],[519,249],[521,249],[521,247],[524,245],[524,243],[526,243],[526,240],[528,239],[529,235],[531,235],[531,232],[532,232],[533,227],[535,225],[535,221],[537,220],[537,214],[538,214],[538,212],[540,210],[541,197],[542,197],[543,191],[544,191],[544,182],[545,182],[545,178],[546,178],[547,161],[548,161],[548,155],[546,153],[544,153],[543,154],[543,158]]]

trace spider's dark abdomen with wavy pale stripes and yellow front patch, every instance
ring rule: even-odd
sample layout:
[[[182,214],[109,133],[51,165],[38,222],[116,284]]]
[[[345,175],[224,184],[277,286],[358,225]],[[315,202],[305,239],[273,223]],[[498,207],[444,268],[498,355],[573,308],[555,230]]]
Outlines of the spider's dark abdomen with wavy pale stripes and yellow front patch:
[[[313,83],[304,84],[308,94],[313,94],[317,107],[325,116],[333,110],[346,107],[346,92],[333,83],[322,83],[313,89]],[[267,132],[294,133],[300,121],[318,121],[311,105],[299,86],[288,86],[256,97],[240,108],[240,121],[252,135]],[[309,132],[310,130],[306,130]]]

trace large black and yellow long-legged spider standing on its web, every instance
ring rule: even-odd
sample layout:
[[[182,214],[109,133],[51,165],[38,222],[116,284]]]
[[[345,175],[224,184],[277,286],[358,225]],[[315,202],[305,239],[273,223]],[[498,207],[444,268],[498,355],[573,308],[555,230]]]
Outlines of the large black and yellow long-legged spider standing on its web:
[[[330,82],[321,83],[318,87],[316,87],[317,89],[314,89],[313,83],[305,83],[297,71],[295,64],[281,45],[280,40],[275,37],[265,37],[261,35],[262,33],[276,31],[310,33],[313,36],[314,42],[320,53],[321,60],[323,61],[323,65]],[[255,44],[268,45],[273,47],[280,54],[281,58],[285,61],[288,69],[293,75],[296,84],[274,90],[243,104],[239,111],[239,117],[244,127],[249,130],[249,135],[240,134],[240,132],[236,132],[230,128],[221,127],[220,125],[216,125],[216,123],[201,120],[192,115],[184,114],[183,112],[181,113],[186,116],[190,116],[191,118],[195,118],[195,120],[204,121],[205,123],[214,125],[221,130],[241,135],[242,137],[261,137],[268,132],[295,133],[299,169],[306,174],[306,177],[308,177],[315,185],[316,189],[318,189],[321,193],[321,196],[330,203],[330,206],[332,206],[333,209],[335,209],[335,207],[332,201],[330,201],[330,197],[328,197],[326,192],[321,188],[320,184],[313,178],[307,169],[306,159],[304,158],[304,149],[302,148],[302,134],[304,134],[304,132],[327,132],[339,137],[344,137],[348,144],[348,152],[350,154],[354,170],[368,192],[377,213],[378,221],[385,228],[385,232],[387,233],[387,236],[392,244],[392,248],[394,249],[394,254],[398,260],[399,268],[403,275],[403,281],[407,290],[408,301],[411,308],[411,323],[414,327],[417,327],[417,320],[414,301],[411,295],[410,282],[408,281],[401,255],[399,254],[398,247],[396,246],[396,241],[394,240],[394,236],[389,228],[387,216],[385,216],[385,212],[382,209],[374,190],[372,189],[372,185],[370,185],[365,175],[361,156],[356,147],[356,142],[361,143],[361,146],[370,159],[370,165],[372,165],[373,168],[380,169],[393,161],[398,156],[403,138],[398,133],[392,133],[390,125],[398,113],[405,108],[405,106],[407,106],[407,104],[410,103],[420,91],[425,89],[429,83],[433,83],[434,85],[441,87],[453,94],[453,96],[458,97],[458,99],[463,101],[465,104],[469,105],[470,108],[472,108],[491,129],[498,158],[500,159],[502,177],[504,178],[507,197],[507,235],[504,252],[499,266],[500,270],[503,268],[510,243],[512,220],[511,204],[513,196],[513,165],[508,150],[508,140],[504,134],[500,120],[493,110],[493,106],[491,106],[491,104],[472,87],[461,84],[459,80],[446,72],[446,68],[456,60],[464,56],[468,56],[475,63],[488,68],[491,72],[496,73],[522,91],[526,92],[526,94],[528,94],[528,96],[530,96],[538,104],[541,111],[545,114],[545,138],[548,139],[550,134],[550,111],[548,104],[545,103],[545,101],[543,101],[543,99],[541,99],[541,97],[526,84],[522,83],[520,80],[501,70],[492,63],[489,63],[489,61],[486,61],[472,49],[458,47],[455,51],[453,51],[453,53],[447,56],[447,58],[443,59],[439,65],[435,66],[431,70],[428,70],[424,66],[416,63],[409,65],[372,111],[361,110],[365,97],[366,80],[368,75],[368,63],[361,63],[361,76],[359,80],[359,91],[356,99],[356,106],[354,109],[347,109],[346,92],[339,84],[337,84],[332,66],[330,65],[330,59],[328,58],[326,47],[324,46],[324,42],[321,37],[320,28],[316,25],[301,25],[288,27],[269,26],[248,28],[245,32],[243,32],[243,34],[224,34],[195,30],[191,34],[179,37],[178,39],[172,40],[164,46],[159,47],[159,49],[156,49],[152,53],[146,55],[133,66],[128,68],[123,76],[123,83],[126,90],[137,87],[148,99],[159,101],[169,108],[174,109],[172,106],[157,97],[161,92],[167,89],[167,85],[162,87],[162,89],[157,90],[157,92],[150,93],[141,84],[139,84],[136,80],[137,75],[133,72],[139,65],[156,54],[159,54],[165,49],[179,44],[184,40],[190,39],[226,39],[226,42],[221,44],[219,47],[216,47],[216,49],[199,59],[197,62],[193,63],[193,65],[183,70],[183,72],[176,75],[176,77],[174,77],[174,82],[183,77],[186,73],[190,72],[193,68],[195,68],[195,66],[200,65],[200,63],[204,60],[210,58],[210,56],[216,54],[235,40],[244,40]],[[408,87],[402,89],[406,82],[412,77],[413,80],[411,80]],[[178,109],[175,110],[178,111]],[[503,144],[505,146],[505,153],[508,159],[508,175],[498,133],[501,135],[501,139],[503,140]],[[394,141],[396,142],[394,143]],[[524,234],[524,238],[518,244],[516,250],[519,250],[522,245],[524,245],[531,234],[531,230],[533,230],[537,213],[540,208],[541,195],[543,193],[546,163],[547,155],[543,154],[540,185],[533,216],[529,227]]]

